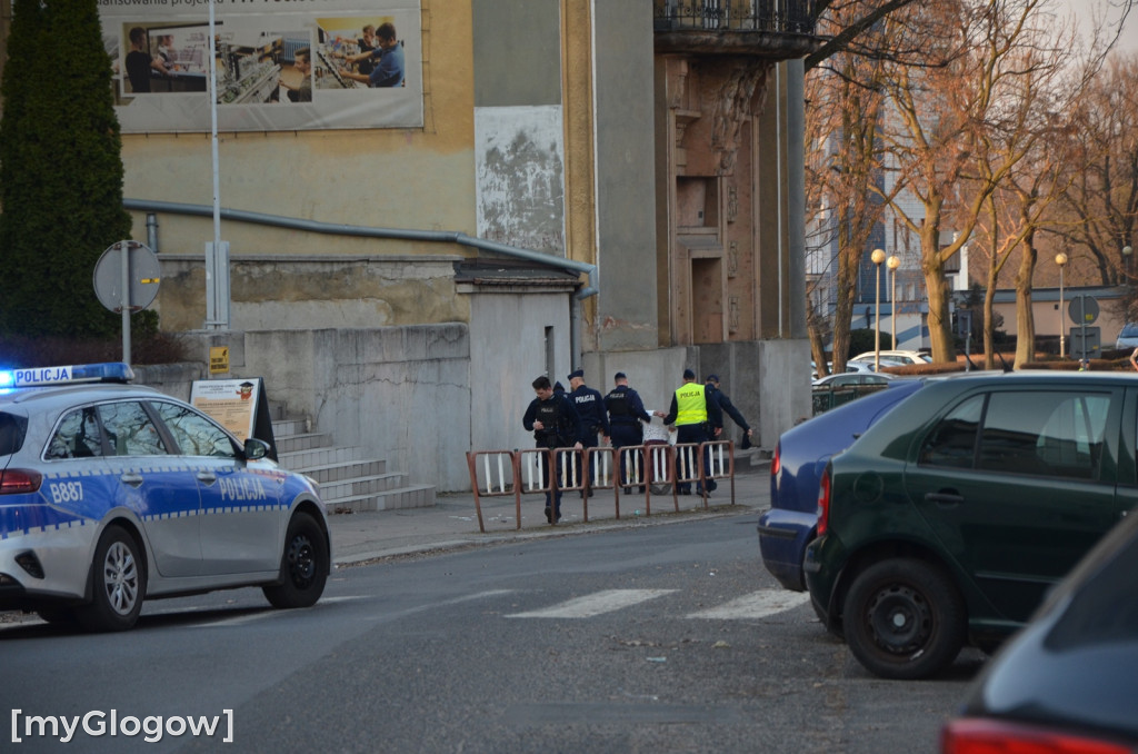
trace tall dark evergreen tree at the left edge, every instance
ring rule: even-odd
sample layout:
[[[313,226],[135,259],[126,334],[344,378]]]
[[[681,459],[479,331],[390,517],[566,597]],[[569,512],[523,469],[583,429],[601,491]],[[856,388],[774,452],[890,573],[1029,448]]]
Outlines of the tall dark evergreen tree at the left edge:
[[[92,276],[131,219],[96,0],[15,0],[0,95],[0,335],[110,336]]]

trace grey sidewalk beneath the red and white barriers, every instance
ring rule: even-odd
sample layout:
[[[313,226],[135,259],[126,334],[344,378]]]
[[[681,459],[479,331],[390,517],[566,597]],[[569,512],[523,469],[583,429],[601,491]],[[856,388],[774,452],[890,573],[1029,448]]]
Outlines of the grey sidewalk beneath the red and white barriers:
[[[718,489],[708,498],[708,510],[703,509],[700,497],[679,495],[681,513],[677,514],[669,493],[652,495],[652,515],[646,516],[643,494],[635,491],[633,494],[621,493],[619,519],[616,518],[612,490],[600,490],[588,499],[587,524],[583,519],[580,493],[566,492],[561,499],[562,518],[556,526],[545,522],[544,495],[523,494],[521,530],[514,528],[517,522],[512,495],[483,498],[485,534],[478,531],[478,513],[472,492],[440,494],[430,508],[331,514],[328,523],[331,528],[332,558],[337,565],[349,565],[414,552],[455,550],[542,536],[566,536],[605,528],[677,524],[712,516],[736,516],[758,513],[770,506],[770,472],[767,461],[754,465],[745,460],[736,462],[734,505],[731,481],[718,482]]]

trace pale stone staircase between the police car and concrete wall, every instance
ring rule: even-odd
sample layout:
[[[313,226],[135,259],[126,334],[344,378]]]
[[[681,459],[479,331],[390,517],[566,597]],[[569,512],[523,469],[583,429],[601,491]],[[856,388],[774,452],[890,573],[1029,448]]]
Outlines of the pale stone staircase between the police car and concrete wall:
[[[320,484],[329,515],[435,505],[435,486],[407,484],[406,474],[388,472],[387,461],[358,445],[336,446],[330,434],[311,432],[306,419],[273,421],[281,467]]]

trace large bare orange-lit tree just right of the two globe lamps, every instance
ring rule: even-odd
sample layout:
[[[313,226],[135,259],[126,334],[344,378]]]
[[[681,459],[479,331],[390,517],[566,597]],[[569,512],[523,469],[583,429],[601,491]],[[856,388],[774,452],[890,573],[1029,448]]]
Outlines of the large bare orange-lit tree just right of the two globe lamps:
[[[992,194],[1012,182],[1039,140],[1054,131],[1053,95],[1063,56],[1050,33],[1049,3],[956,0],[917,8],[909,15],[910,30],[951,31],[931,47],[930,67],[890,68],[901,124],[891,150],[906,188],[901,196],[915,198],[917,212],[906,200],[894,200],[893,208],[921,238],[935,361],[954,358],[946,263],[968,243]],[[1038,182],[1021,194],[1030,200],[1021,212],[1021,240],[1038,218]],[[990,269],[989,309],[999,267]],[[1026,274],[1017,285],[1029,304],[1030,281]]]

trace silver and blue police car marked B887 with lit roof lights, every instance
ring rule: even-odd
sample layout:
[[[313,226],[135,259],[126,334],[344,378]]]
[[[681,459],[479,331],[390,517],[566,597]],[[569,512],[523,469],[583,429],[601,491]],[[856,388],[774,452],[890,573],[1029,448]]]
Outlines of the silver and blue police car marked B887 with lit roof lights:
[[[261,587],[320,599],[315,484],[125,363],[0,370],[0,610],[130,629],[143,599]]]

